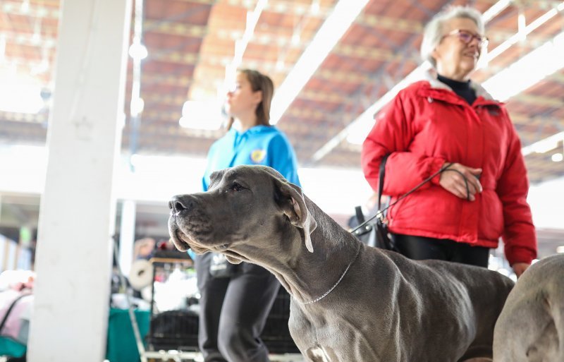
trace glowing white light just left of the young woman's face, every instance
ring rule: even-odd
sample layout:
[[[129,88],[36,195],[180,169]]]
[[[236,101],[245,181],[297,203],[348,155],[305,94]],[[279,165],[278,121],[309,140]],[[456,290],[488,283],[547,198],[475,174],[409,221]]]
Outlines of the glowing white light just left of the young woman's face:
[[[182,107],[180,126],[185,128],[216,130],[221,127],[221,105],[216,101],[186,101]]]

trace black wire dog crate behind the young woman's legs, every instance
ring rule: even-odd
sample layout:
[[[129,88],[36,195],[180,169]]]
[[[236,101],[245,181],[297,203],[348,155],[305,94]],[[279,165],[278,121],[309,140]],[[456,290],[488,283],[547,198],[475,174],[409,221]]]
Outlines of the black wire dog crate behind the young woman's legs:
[[[198,295],[193,289],[195,270],[192,260],[186,253],[157,253],[152,258],[152,265],[151,322],[146,337],[149,350],[197,351]],[[166,284],[173,284],[173,289],[184,289],[186,295],[182,298],[179,295],[168,296],[173,302],[159,303],[163,297],[159,294],[168,291],[168,288],[163,287]],[[190,292],[190,289],[194,292]],[[300,354],[290,337],[289,317],[290,295],[281,287],[261,334],[270,354]]]

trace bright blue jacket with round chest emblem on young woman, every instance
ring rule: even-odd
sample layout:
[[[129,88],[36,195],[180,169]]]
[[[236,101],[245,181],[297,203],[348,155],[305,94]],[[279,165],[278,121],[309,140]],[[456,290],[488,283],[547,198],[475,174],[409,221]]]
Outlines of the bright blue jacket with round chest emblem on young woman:
[[[298,161],[286,135],[274,126],[255,126],[240,133],[231,128],[209,148],[207,168],[202,178],[204,191],[212,172],[240,164],[272,167],[298,186]]]

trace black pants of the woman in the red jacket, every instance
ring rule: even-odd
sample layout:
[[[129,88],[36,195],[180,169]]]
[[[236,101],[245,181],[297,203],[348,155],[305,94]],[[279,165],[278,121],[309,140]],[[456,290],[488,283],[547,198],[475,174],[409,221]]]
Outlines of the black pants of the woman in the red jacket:
[[[398,251],[413,260],[439,259],[488,267],[489,248],[471,246],[449,239],[393,234]]]

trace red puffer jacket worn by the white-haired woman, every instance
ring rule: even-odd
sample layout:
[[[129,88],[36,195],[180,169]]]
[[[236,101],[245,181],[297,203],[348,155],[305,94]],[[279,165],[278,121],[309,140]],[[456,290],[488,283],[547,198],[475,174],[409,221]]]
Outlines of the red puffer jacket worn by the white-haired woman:
[[[530,263],[537,257],[537,236],[520,140],[503,104],[471,86],[478,96],[472,106],[436,79],[401,90],[364,140],[364,176],[377,190],[379,164],[391,154],[384,194],[393,202],[445,162],[481,168],[483,192],[476,200],[446,191],[436,176],[388,210],[389,229],[487,248],[496,248],[503,236],[509,263]]]

